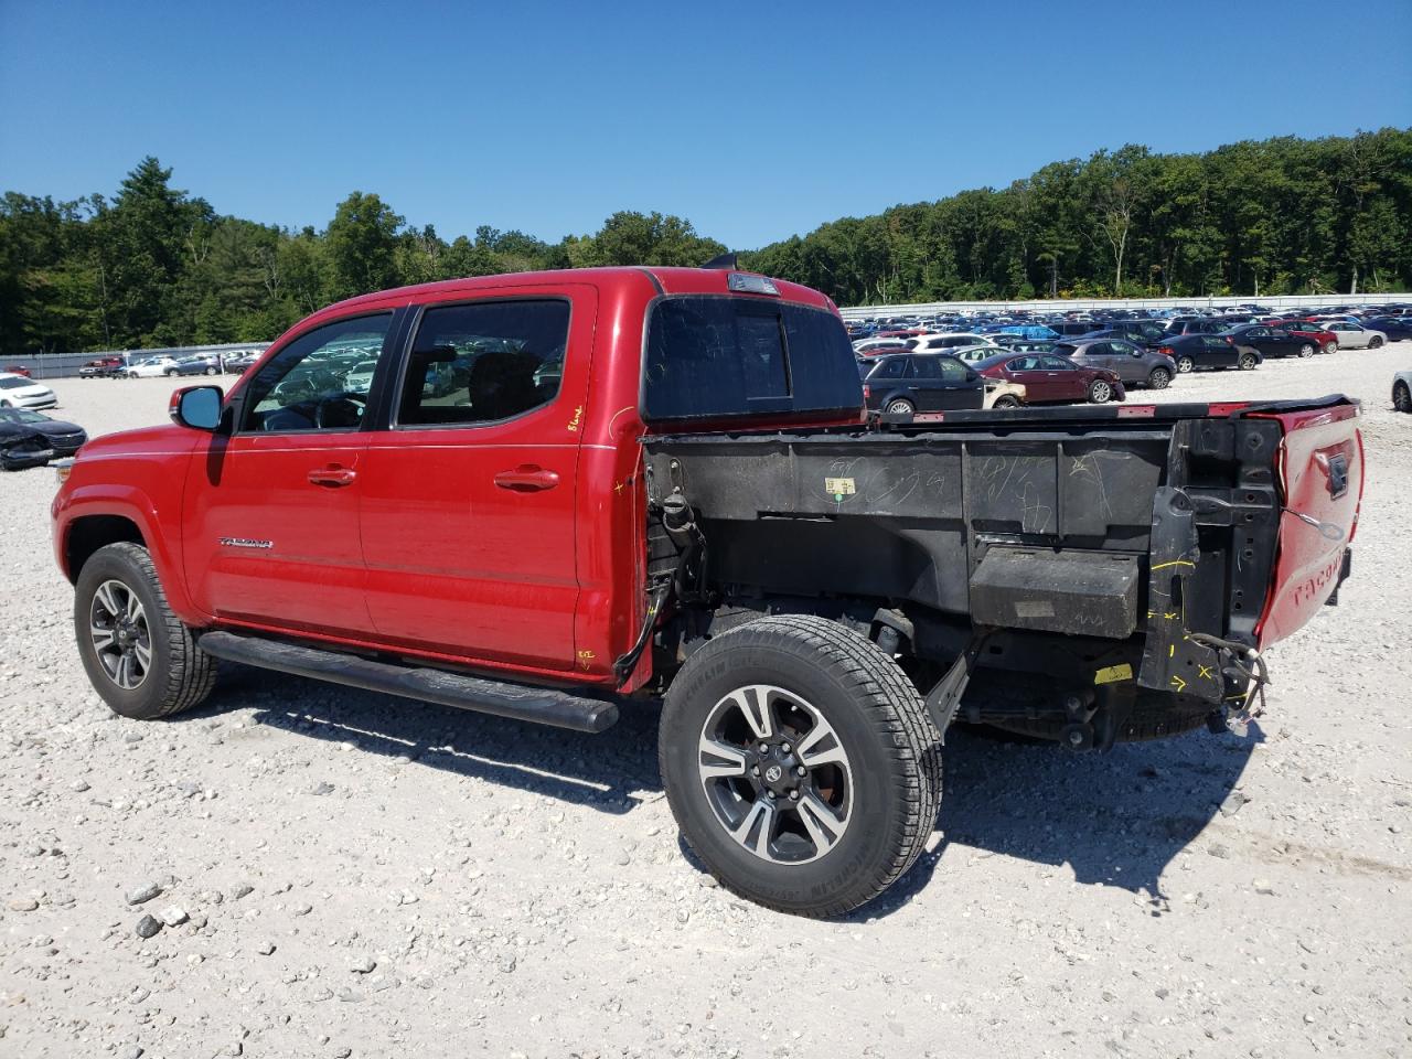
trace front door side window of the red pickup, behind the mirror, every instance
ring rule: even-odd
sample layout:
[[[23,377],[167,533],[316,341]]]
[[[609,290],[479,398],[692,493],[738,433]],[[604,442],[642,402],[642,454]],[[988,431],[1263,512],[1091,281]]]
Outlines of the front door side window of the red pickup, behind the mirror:
[[[349,373],[377,360],[391,313],[359,316],[301,335],[271,357],[246,387],[246,431],[356,431],[367,393]]]

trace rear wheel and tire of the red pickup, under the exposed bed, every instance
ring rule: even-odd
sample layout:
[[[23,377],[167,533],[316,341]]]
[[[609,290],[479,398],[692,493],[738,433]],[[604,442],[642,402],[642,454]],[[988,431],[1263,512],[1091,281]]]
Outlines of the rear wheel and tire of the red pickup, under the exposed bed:
[[[798,746],[784,750],[791,737]],[[729,754],[703,750],[707,738]],[[692,654],[666,693],[658,764],[682,836],[722,885],[779,912],[836,916],[921,856],[942,796],[939,744],[916,689],[873,641],[826,618],[779,616]],[[805,762],[842,755],[842,764],[798,778],[801,758],[789,754],[805,747]],[[712,765],[726,772],[707,775]],[[764,770],[758,779],[754,768]],[[785,789],[768,798],[778,782],[802,798],[785,801]],[[813,803],[832,815],[827,830],[816,812],[806,819]]]

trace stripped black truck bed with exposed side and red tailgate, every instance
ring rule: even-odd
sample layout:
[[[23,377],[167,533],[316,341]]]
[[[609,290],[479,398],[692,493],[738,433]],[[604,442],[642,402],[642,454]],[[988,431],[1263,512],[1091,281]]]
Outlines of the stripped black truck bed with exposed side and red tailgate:
[[[1076,748],[1171,734],[1244,705],[1258,651],[1336,599],[1356,417],[1330,397],[648,438],[654,503],[693,521],[658,569],[744,613],[832,602],[914,678],[969,659],[963,686],[1051,689],[971,696],[973,722]]]

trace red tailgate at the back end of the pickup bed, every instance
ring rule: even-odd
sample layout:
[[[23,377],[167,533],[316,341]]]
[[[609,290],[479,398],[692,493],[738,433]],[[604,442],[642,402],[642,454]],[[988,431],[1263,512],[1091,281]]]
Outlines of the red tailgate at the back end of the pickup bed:
[[[1254,412],[1275,419],[1279,446],[1279,541],[1275,575],[1255,634],[1265,648],[1298,630],[1347,572],[1363,500],[1358,405]]]

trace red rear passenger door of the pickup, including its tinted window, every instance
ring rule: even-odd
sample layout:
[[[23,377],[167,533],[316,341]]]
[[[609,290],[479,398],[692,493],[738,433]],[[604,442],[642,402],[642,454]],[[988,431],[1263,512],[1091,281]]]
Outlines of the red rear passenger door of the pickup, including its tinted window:
[[[592,287],[487,291],[417,325],[388,429],[363,453],[363,554],[380,638],[572,669],[579,441]]]

